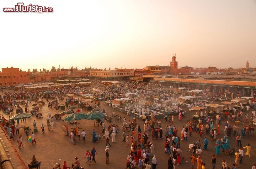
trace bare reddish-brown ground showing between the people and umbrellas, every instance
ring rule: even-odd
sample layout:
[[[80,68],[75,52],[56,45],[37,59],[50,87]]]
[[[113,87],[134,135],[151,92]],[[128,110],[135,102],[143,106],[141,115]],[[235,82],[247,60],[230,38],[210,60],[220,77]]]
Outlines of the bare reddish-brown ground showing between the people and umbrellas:
[[[46,100],[44,100],[46,102]],[[64,103],[64,100],[63,102]],[[34,101],[32,102],[32,104],[34,104]],[[29,105],[29,109],[32,110],[32,104]],[[77,105],[75,105],[77,106]],[[126,116],[127,121],[130,119],[130,117],[127,117],[126,113],[122,113],[116,110],[111,110],[109,106],[101,104],[100,109],[105,109],[108,113],[108,115],[112,114],[112,111],[115,111],[117,115],[119,116]],[[185,108],[186,110],[186,108]],[[25,140],[23,145],[25,148],[21,148],[21,150],[19,150],[20,155],[23,159],[23,161],[28,164],[31,162],[31,158],[33,157],[33,155],[36,156],[38,161],[41,161],[41,169],[52,169],[55,163],[59,163],[63,164],[63,161],[66,161],[66,163],[68,164],[68,166],[71,165],[71,163],[73,163],[75,161],[75,157],[78,157],[80,159],[81,162],[81,166],[83,166],[84,168],[90,167],[90,168],[125,168],[126,167],[126,159],[127,159],[127,155],[128,152],[130,150],[130,146],[127,147],[125,143],[122,143],[122,130],[119,130],[118,133],[116,134],[116,142],[112,143],[110,142],[110,144],[112,145],[111,147],[109,147],[109,153],[110,153],[110,164],[106,164],[105,163],[105,145],[106,145],[106,141],[105,138],[103,138],[101,141],[93,143],[92,142],[92,129],[94,127],[91,127],[94,124],[93,120],[80,120],[78,121],[79,124],[77,124],[77,126],[79,127],[79,129],[85,130],[86,132],[86,139],[85,142],[82,141],[82,138],[80,138],[80,140],[78,140],[77,136],[75,137],[75,141],[74,144],[71,143],[69,136],[64,136],[63,134],[63,125],[67,124],[69,126],[69,128],[74,128],[76,126],[76,124],[69,124],[69,122],[65,122],[62,120],[57,120],[56,124],[54,124],[53,127],[53,131],[48,131],[47,127],[45,129],[45,133],[42,134],[42,130],[41,130],[41,125],[42,123],[46,124],[47,120],[46,117],[48,115],[48,111],[51,112],[51,115],[54,115],[55,113],[60,113],[62,112],[62,110],[58,110],[57,112],[55,112],[54,109],[48,108],[47,105],[43,105],[43,109],[39,110],[40,113],[43,114],[43,118],[42,119],[38,119],[36,118],[34,115],[31,118],[26,119],[26,122],[22,122],[22,124],[24,126],[30,126],[30,135],[31,132],[33,132],[33,121],[35,120],[37,122],[37,128],[38,128],[38,132],[35,133],[35,139],[37,141],[37,144],[31,144],[30,142],[26,141],[26,134],[23,131],[23,128],[20,129],[20,135],[23,136],[23,139]],[[83,112],[89,112],[88,110],[83,110]],[[180,132],[182,129],[182,126],[185,125],[186,123],[186,119],[188,116],[192,115],[192,112],[187,111],[188,113],[185,115],[185,119],[182,119],[181,122],[178,122],[178,117],[175,116],[175,125],[178,128],[178,135],[180,136]],[[65,118],[66,115],[64,115]],[[165,126],[169,125],[169,122],[165,122],[164,117],[159,117],[161,118],[162,121],[162,128],[164,130],[163,135],[165,133]],[[96,121],[95,121],[96,122]],[[109,123],[106,123],[106,127],[108,127]],[[113,122],[115,123],[115,122]],[[122,123],[123,121],[119,121],[116,122],[116,124],[118,124],[118,126],[121,128],[122,127]],[[137,123],[140,124],[140,127],[143,130],[143,123],[142,120],[138,119]],[[21,120],[20,120],[20,124],[21,125]],[[241,124],[239,125],[239,127],[241,127]],[[223,128],[224,128],[224,123],[221,124],[221,136],[223,136]],[[69,129],[70,130],[70,129]],[[101,133],[102,132],[102,127],[95,127],[95,131],[97,133]],[[130,133],[126,133],[129,134]],[[209,138],[209,135],[207,135]],[[164,137],[165,138],[165,137]],[[218,136],[218,138],[220,138],[220,136]],[[187,150],[188,150],[188,145],[189,144],[193,144],[194,142],[196,142],[198,139],[201,139],[201,141],[203,142],[203,138],[200,138],[198,133],[193,133],[192,136],[188,136],[188,141],[181,141],[181,148],[182,148],[182,152],[184,155],[184,158],[182,160],[182,163],[180,165],[176,165],[175,168],[176,169],[185,169],[185,168],[190,168],[190,157],[187,156]],[[254,159],[255,157],[255,151],[254,151],[254,143],[255,143],[255,137],[248,137],[246,136],[245,138],[242,138],[242,145],[245,146],[247,145],[247,143],[250,143],[252,146],[252,158],[249,158],[248,156],[244,156],[243,158],[243,163],[240,164],[240,168],[251,168],[251,166],[253,165],[253,163],[255,163],[255,161],[252,161],[252,159]],[[17,135],[15,135],[15,141],[14,144],[16,145],[16,147],[18,147],[17,144]],[[111,139],[110,139],[111,141]],[[155,155],[156,155],[156,159],[157,159],[157,166],[156,168],[159,169],[164,169],[167,168],[167,161],[169,159],[169,156],[167,154],[164,153],[164,141],[165,139],[151,139],[151,134],[149,135],[149,141],[153,142],[154,147],[155,147]],[[234,136],[231,136],[230,139],[230,147],[236,145],[236,141]],[[208,144],[208,150],[205,150],[202,152],[202,159],[203,162],[206,163],[206,168],[211,168],[211,164],[210,164],[210,159],[212,157],[212,155],[215,155],[215,150],[214,150],[214,146],[215,146],[215,141],[210,141],[209,140],[209,144]],[[96,158],[96,162],[97,163],[90,163],[87,164],[86,163],[86,151],[89,150],[91,151],[92,147],[96,147],[96,151],[98,153],[98,155],[95,156]],[[246,150],[244,150],[244,153],[246,152]],[[221,163],[222,163],[222,159],[226,160],[226,163],[228,164],[229,167],[232,166],[232,164],[235,162],[234,157],[228,157],[225,156],[225,154],[223,152],[220,153],[220,156],[217,157],[217,165],[216,168],[221,168]],[[150,158],[150,162],[152,161],[152,158]]]

